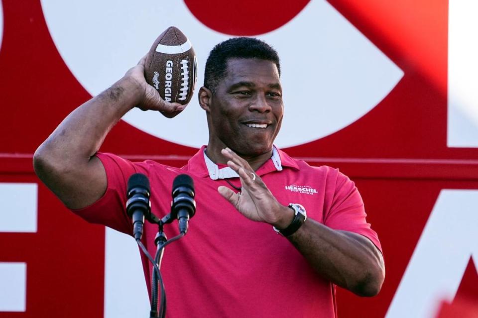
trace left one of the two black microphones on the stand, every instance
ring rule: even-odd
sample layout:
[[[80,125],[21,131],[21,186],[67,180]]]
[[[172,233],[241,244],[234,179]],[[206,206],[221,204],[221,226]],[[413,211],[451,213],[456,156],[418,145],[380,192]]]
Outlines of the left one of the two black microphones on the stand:
[[[150,218],[151,203],[149,202],[149,180],[141,173],[135,173],[128,179],[126,192],[126,213],[132,218],[133,235],[135,239],[141,239],[143,235],[144,216]]]

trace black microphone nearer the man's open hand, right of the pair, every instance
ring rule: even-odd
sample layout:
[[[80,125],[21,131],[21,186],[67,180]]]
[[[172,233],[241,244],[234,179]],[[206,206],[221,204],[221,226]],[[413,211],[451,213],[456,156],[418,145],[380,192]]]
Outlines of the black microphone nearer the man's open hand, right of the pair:
[[[171,214],[178,219],[179,232],[186,234],[189,218],[196,212],[193,179],[188,175],[174,178],[172,197]]]

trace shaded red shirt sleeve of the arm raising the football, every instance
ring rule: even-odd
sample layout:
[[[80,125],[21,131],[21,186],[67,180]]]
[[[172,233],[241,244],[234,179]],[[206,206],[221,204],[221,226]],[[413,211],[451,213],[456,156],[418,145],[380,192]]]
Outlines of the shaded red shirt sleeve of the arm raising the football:
[[[127,182],[132,174],[148,176],[148,171],[141,163],[133,163],[111,153],[97,153],[96,156],[106,171],[106,192],[92,205],[71,211],[90,223],[103,224],[132,235],[131,220],[125,207]]]

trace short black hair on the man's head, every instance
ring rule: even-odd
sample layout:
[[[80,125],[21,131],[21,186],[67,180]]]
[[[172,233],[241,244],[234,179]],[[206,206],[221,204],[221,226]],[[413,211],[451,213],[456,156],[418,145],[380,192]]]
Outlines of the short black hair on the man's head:
[[[234,37],[217,44],[209,53],[204,86],[211,92],[216,92],[219,82],[227,75],[228,60],[231,58],[271,61],[277,66],[280,76],[279,55],[272,46],[251,37]]]

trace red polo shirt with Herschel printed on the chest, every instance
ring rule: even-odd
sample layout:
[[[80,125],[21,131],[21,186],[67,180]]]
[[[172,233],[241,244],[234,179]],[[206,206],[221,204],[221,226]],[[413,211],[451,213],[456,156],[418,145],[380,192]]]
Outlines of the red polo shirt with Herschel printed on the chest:
[[[362,234],[381,250],[348,177],[327,166],[311,167],[280,150],[278,154],[282,170],[268,160],[256,173],[281,204],[300,203],[308,218]],[[166,248],[161,266],[167,317],[337,317],[335,285],[319,277],[271,225],[247,219],[221,197],[219,186],[232,187],[210,178],[204,147],[180,169],[151,160],[133,163],[109,153],[97,156],[106,170],[107,191],[93,205],[73,212],[130,235],[124,205],[131,174],[148,176],[151,209],[159,217],[169,212],[173,179],[182,173],[194,179],[196,214],[188,234]],[[239,178],[229,181],[240,187]],[[152,255],[156,232],[157,226],[145,224],[143,241]],[[177,224],[166,225],[165,232],[169,238],[177,235]],[[143,267],[149,288],[151,266],[144,257]]]

